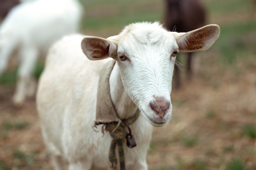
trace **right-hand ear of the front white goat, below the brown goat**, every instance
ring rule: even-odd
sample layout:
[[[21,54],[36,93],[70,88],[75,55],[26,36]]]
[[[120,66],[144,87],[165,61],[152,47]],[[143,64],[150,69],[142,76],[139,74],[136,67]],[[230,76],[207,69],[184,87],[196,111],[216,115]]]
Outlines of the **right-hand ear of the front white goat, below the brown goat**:
[[[217,40],[220,35],[220,27],[210,24],[186,33],[171,33],[176,39],[180,52],[204,51]]]

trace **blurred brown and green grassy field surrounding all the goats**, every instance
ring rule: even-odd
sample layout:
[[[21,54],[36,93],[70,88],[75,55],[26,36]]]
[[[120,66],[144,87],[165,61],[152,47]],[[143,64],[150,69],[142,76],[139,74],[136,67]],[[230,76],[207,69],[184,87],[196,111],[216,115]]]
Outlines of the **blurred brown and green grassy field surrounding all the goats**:
[[[82,33],[107,38],[130,22],[163,22],[159,0],[83,0]],[[204,0],[220,38],[195,54],[193,78],[173,89],[173,117],[155,128],[149,170],[256,170],[256,7],[251,0]],[[179,54],[184,60],[183,54]],[[36,76],[43,62],[38,63]],[[181,66],[182,70],[186,66]],[[16,68],[0,77],[0,170],[50,170],[35,98],[13,106]]]

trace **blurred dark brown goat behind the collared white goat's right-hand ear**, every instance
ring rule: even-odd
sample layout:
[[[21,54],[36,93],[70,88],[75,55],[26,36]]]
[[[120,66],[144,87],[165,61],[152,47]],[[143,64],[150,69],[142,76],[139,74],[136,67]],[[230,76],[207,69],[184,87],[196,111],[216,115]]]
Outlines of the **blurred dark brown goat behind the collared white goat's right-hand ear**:
[[[199,0],[165,0],[165,26],[170,31],[187,32],[205,24],[206,11]],[[191,55],[187,58],[187,76],[191,77]],[[178,58],[177,58],[178,59]],[[180,87],[180,71],[175,64],[175,88]]]

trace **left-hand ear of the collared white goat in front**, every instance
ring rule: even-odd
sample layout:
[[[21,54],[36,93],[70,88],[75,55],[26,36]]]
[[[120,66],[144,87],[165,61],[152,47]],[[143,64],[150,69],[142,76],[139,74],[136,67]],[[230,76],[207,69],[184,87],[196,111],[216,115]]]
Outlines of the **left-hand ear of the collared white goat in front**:
[[[117,55],[117,46],[113,40],[100,37],[85,37],[81,42],[83,53],[90,60],[102,60]]]

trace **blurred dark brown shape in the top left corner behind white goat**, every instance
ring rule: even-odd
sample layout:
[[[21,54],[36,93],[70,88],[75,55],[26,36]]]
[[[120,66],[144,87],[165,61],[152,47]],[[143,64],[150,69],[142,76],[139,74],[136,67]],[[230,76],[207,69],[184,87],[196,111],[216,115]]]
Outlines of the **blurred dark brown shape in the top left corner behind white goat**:
[[[0,20],[3,20],[7,13],[19,3],[20,0],[0,0]]]

